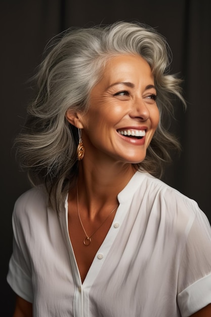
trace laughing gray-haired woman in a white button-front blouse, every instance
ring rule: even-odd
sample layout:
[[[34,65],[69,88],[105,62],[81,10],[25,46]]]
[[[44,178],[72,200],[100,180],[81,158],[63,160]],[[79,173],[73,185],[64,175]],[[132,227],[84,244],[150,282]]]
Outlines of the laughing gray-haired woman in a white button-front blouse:
[[[41,64],[17,139],[35,186],[13,213],[15,317],[210,316],[208,220],[158,179],[185,103],[168,52],[118,22],[68,30]]]

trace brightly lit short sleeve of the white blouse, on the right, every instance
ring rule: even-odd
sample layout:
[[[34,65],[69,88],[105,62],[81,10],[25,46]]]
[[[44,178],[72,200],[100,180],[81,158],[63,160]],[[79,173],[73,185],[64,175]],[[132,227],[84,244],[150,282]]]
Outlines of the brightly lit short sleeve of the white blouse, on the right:
[[[196,207],[178,276],[178,305],[188,317],[211,303],[211,228]]]

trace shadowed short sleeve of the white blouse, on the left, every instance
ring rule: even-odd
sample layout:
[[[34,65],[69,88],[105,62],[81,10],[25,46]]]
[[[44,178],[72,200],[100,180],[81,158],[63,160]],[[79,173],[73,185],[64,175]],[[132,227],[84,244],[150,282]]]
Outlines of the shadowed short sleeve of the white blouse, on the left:
[[[33,291],[31,282],[30,257],[27,249],[27,236],[24,231],[26,227],[20,220],[21,206],[15,204],[12,224],[13,224],[13,254],[9,263],[7,281],[13,291],[23,299],[32,302]],[[23,211],[24,213],[24,211]],[[28,236],[30,232],[28,232]]]

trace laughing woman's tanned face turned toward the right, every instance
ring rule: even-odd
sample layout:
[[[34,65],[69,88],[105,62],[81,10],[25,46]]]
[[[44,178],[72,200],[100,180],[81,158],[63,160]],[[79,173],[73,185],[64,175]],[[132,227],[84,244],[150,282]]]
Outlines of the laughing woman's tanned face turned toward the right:
[[[86,156],[142,162],[159,122],[149,64],[140,56],[113,57],[91,92],[90,103],[80,117]]]

